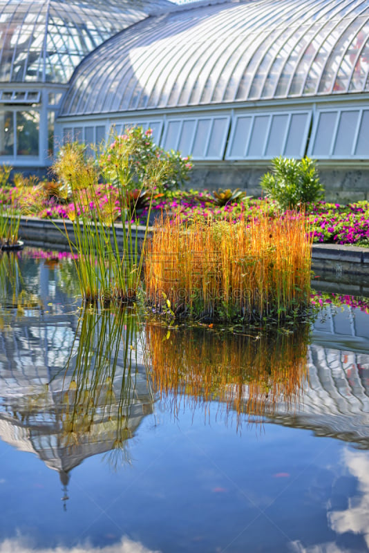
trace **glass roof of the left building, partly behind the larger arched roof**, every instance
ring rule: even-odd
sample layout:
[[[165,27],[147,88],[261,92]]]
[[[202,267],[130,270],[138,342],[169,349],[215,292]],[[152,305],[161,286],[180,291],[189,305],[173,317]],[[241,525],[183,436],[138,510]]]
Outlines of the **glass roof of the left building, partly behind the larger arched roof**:
[[[0,0],[0,82],[66,83],[91,50],[167,0]]]

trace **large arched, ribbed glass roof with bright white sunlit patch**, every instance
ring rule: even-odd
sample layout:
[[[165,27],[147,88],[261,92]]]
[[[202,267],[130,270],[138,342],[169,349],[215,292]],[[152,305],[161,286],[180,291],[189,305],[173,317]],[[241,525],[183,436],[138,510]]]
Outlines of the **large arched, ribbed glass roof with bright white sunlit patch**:
[[[182,6],[113,37],[61,115],[369,91],[368,0]]]

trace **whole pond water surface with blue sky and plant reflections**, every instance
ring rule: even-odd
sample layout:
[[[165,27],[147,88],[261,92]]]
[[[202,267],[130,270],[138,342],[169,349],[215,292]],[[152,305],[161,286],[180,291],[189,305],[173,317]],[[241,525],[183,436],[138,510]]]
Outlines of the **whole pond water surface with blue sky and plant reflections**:
[[[78,294],[0,259],[1,553],[369,550],[365,302],[233,335]]]

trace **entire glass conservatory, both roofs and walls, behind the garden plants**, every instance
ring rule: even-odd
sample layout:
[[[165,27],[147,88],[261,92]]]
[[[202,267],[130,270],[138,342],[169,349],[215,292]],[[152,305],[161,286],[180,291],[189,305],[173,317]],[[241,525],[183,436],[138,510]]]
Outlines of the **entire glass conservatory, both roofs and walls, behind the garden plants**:
[[[234,184],[236,167],[279,154],[308,153],[328,169],[369,162],[366,0],[2,6],[4,159],[26,163],[37,147],[23,130],[37,134],[43,118],[51,129],[58,115],[60,141],[150,125],[199,170],[234,167]],[[42,164],[46,135],[40,124]]]

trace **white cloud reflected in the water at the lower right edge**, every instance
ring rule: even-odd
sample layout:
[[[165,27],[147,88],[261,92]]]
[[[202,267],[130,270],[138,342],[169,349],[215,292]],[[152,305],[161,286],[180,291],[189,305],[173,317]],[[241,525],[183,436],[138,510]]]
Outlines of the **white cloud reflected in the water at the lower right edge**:
[[[361,534],[369,548],[369,456],[363,451],[347,449],[343,453],[343,460],[350,474],[357,478],[361,495],[349,498],[348,509],[328,513],[328,522],[337,534]]]

